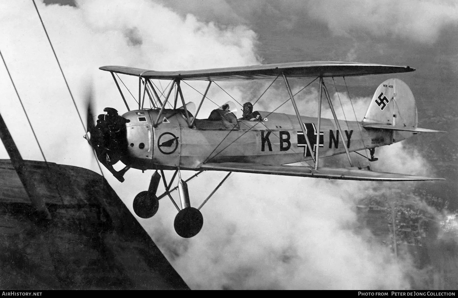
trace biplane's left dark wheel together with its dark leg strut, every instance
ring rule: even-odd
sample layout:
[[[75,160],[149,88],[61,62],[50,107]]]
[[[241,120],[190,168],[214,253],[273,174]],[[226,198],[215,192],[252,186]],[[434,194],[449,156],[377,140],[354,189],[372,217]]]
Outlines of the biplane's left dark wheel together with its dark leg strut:
[[[138,217],[150,218],[153,217],[159,209],[159,200],[156,196],[161,175],[158,171],[151,176],[151,182],[147,191],[142,191],[135,196],[133,207],[134,212]]]

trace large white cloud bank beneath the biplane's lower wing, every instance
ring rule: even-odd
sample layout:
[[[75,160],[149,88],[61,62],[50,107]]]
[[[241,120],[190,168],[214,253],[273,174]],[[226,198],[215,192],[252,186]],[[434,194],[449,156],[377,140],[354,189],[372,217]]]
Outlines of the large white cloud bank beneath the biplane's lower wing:
[[[213,185],[217,175],[201,179]],[[172,233],[159,245],[167,255],[170,244],[191,288],[408,288],[409,261],[397,263],[370,233],[356,232],[355,203],[385,191],[374,186],[237,173],[202,208],[200,234]],[[177,242],[186,246],[178,256]]]

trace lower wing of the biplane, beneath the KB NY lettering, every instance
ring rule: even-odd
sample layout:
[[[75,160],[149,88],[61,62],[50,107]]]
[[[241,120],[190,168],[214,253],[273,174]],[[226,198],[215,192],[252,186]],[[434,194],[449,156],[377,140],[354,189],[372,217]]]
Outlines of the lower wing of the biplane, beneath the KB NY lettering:
[[[374,172],[358,168],[309,168],[301,166],[267,166],[255,163],[205,163],[200,170],[227,171],[362,181],[445,180],[398,173]]]

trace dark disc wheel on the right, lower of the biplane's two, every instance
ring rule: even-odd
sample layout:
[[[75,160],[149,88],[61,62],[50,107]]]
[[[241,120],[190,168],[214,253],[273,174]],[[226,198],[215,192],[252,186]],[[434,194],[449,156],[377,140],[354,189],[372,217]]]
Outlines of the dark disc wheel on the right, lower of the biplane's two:
[[[175,217],[175,232],[183,238],[191,238],[200,232],[203,226],[202,213],[194,207],[180,210]]]

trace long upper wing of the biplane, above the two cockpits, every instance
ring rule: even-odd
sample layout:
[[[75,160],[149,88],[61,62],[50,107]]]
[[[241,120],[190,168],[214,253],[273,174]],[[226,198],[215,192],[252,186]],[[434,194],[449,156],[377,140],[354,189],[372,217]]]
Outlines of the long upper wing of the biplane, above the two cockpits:
[[[365,76],[414,71],[409,66],[339,61],[311,61],[252,65],[203,70],[154,71],[125,66],[102,66],[101,70],[159,80],[241,81],[287,77]]]

